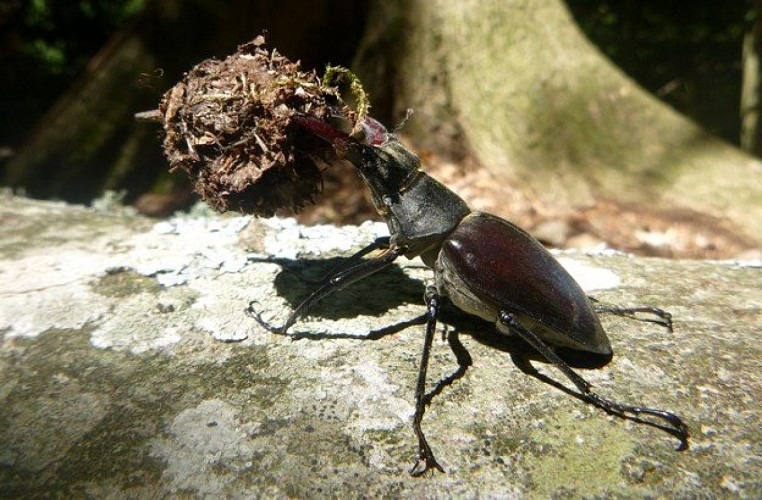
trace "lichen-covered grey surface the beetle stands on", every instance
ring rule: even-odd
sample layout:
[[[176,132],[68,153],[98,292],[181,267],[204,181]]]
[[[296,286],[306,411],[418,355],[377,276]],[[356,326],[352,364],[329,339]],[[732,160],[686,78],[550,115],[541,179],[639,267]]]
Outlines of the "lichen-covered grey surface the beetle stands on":
[[[759,262],[561,256],[597,298],[674,314],[672,334],[605,317],[615,357],[580,372],[680,414],[689,450],[525,375],[474,322],[458,326],[474,365],[424,418],[447,474],[415,479],[419,262],[327,300],[297,339],[244,312],[282,321],[382,225],[157,223],[6,194],[0,227],[4,498],[762,495]],[[456,367],[437,338],[429,388]]]

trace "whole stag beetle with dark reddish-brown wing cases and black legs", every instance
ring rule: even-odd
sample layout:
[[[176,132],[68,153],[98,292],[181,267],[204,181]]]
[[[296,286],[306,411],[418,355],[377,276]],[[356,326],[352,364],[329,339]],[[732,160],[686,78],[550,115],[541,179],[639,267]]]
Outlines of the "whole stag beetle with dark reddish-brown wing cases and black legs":
[[[435,280],[425,293],[426,333],[413,418],[418,453],[410,470],[412,475],[419,476],[430,469],[444,472],[421,429],[430,400],[425,394],[426,369],[444,297],[462,311],[494,323],[500,334],[518,335],[554,364],[576,386],[582,399],[608,413],[629,414],[640,422],[643,420],[638,415],[662,419],[669,425],[662,428],[680,439],[678,449],[687,448],[688,428],[680,417],[602,398],[556,352],[556,348],[571,348],[609,359],[613,353],[596,307],[542,244],[504,219],[471,211],[455,193],[423,173],[419,158],[378,121],[366,117],[360,134],[350,135],[308,115],[296,116],[294,120],[329,141],[339,159],[356,167],[391,236],[350,257],[349,264],[327,277],[282,326],[265,322],[254,311],[253,303],[248,312],[271,331],[285,334],[326,296],[389,267],[402,255],[420,256],[433,269]],[[362,259],[374,250],[381,252]],[[671,329],[671,317],[658,308],[608,309],[623,315],[642,311],[659,315]]]

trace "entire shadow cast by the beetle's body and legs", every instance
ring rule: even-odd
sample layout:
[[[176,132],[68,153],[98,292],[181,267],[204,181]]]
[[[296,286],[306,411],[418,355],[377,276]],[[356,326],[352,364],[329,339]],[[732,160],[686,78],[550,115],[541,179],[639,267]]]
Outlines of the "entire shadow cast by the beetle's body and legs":
[[[331,259],[300,260],[269,258],[259,259],[258,261],[275,263],[281,266],[281,271],[277,274],[274,280],[274,285],[278,295],[283,297],[293,309],[307,298],[312,291],[319,287],[320,284],[325,281],[327,275],[340,268],[341,264],[344,263],[346,259],[338,257]],[[398,266],[390,266],[388,269],[374,274],[372,278],[360,280],[351,286],[354,289],[354,293],[342,294],[339,292],[333,294],[320,301],[319,304],[316,304],[315,308],[310,311],[310,314],[335,320],[340,318],[351,318],[361,314],[382,316],[390,309],[406,303],[421,303],[423,306],[422,292],[425,289],[424,283],[421,280],[408,277]],[[379,293],[379,290],[382,292]],[[363,300],[357,300],[356,297],[358,296],[363,297]],[[511,357],[514,365],[523,373],[586,404],[598,406],[609,414],[639,424],[648,425],[675,436],[681,440],[681,445],[678,447],[678,450],[687,447],[687,442],[684,439],[685,436],[682,436],[675,428],[652,420],[643,419],[629,413],[612,411],[600,407],[580,392],[540,373],[532,365],[532,362],[539,361],[544,364],[552,363],[520,337],[506,335],[500,332],[493,323],[460,311],[448,300],[443,301],[438,319],[442,324],[450,327],[447,331],[447,341],[456,356],[458,366],[452,373],[438,380],[431,391],[424,395],[425,405],[429,405],[446,387],[462,378],[466,374],[468,368],[472,365],[471,355],[460,342],[458,337],[460,333],[463,333],[487,347],[507,353]],[[371,330],[365,335],[306,333],[298,331],[281,333],[281,335],[292,339],[311,340],[379,340],[386,336],[399,333],[411,326],[423,326],[425,324],[426,314],[421,314],[409,320],[400,321],[392,325]],[[607,365],[613,358],[613,354],[600,355],[563,347],[555,347],[554,350],[565,363],[573,368],[601,368]]]

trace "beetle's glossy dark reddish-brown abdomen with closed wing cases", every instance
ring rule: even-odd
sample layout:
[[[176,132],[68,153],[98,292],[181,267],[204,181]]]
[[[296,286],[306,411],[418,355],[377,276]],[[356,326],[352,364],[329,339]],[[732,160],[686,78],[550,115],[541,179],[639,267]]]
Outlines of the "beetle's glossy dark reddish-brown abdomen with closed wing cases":
[[[516,314],[547,342],[611,354],[590,300],[537,240],[494,215],[473,212],[448,236],[437,286],[464,311],[497,321]]]

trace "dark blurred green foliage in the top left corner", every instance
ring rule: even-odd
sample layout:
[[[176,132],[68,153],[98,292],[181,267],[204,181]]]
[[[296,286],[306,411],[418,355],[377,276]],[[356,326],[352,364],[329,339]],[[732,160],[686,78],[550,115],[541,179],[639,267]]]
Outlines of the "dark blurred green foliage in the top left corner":
[[[0,146],[17,146],[145,0],[0,2]]]

